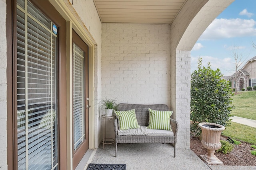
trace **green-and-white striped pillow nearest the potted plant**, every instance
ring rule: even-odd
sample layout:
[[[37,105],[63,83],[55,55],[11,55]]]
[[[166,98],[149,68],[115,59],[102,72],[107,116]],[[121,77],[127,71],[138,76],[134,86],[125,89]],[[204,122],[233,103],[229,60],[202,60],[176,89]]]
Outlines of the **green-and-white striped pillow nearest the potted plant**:
[[[114,110],[114,113],[118,119],[120,130],[137,129],[140,127],[136,119],[135,109],[127,111]]]

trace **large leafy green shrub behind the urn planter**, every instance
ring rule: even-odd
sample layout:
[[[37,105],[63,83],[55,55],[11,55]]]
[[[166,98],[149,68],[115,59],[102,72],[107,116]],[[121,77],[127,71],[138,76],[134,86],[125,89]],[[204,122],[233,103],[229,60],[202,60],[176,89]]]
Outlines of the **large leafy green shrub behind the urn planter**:
[[[232,106],[231,87],[222,79],[220,69],[212,70],[210,63],[202,66],[202,58],[198,60],[198,70],[191,75],[191,124],[192,136],[201,133],[198,123],[211,122],[228,126]]]

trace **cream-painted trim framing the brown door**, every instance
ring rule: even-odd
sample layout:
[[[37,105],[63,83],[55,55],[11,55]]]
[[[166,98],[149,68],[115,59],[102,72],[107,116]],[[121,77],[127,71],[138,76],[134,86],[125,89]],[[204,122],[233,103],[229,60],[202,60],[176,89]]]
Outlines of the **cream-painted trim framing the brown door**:
[[[67,63],[67,74],[66,74],[66,98],[67,98],[67,164],[68,169],[72,169],[72,154],[73,154],[73,129],[72,129],[72,29],[78,34],[78,36],[88,45],[88,53],[89,53],[89,149],[96,149],[98,147],[98,143],[96,143],[96,132],[95,132],[95,112],[97,108],[94,104],[94,46],[97,46],[96,41],[90,35],[88,29],[83,24],[80,18],[76,18],[68,6],[70,4],[66,4],[63,0],[49,0],[52,5],[58,10],[58,12],[64,17],[66,20],[66,63]]]

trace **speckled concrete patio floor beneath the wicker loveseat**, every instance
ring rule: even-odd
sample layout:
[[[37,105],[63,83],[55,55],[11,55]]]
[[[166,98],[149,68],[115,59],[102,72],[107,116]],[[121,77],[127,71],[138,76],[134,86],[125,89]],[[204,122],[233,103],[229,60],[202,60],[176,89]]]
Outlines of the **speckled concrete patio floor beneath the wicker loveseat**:
[[[94,150],[89,163],[126,164],[126,170],[256,170],[256,166],[208,166],[190,149],[176,149],[170,144],[118,144],[115,147],[101,144]]]

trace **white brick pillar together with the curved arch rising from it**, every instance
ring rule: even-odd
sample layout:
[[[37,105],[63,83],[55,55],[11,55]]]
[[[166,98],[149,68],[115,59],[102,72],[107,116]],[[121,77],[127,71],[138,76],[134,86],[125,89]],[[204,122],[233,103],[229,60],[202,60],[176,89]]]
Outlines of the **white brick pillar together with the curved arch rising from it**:
[[[190,50],[199,36],[234,0],[190,0],[171,25],[171,109],[178,121],[177,147],[190,147]]]

